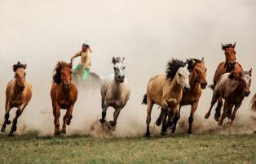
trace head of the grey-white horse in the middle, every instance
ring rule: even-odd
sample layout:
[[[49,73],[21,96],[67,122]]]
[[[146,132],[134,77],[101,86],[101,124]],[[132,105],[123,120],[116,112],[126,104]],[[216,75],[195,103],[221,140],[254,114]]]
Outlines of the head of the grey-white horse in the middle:
[[[115,74],[115,80],[117,80],[120,83],[123,83],[125,80],[125,69],[126,67],[124,66],[124,60],[125,58],[120,58],[120,57],[113,57],[112,63],[113,63],[113,68],[114,68],[114,74]]]

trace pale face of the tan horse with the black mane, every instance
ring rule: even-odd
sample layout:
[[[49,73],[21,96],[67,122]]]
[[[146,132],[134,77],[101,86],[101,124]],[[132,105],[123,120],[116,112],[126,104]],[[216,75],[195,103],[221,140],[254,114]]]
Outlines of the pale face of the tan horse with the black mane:
[[[187,67],[180,67],[179,70],[177,71],[176,75],[177,74],[178,74],[178,76],[176,78],[178,78],[178,84],[181,85],[183,90],[190,89],[189,77],[188,77],[189,71],[188,71]]]

